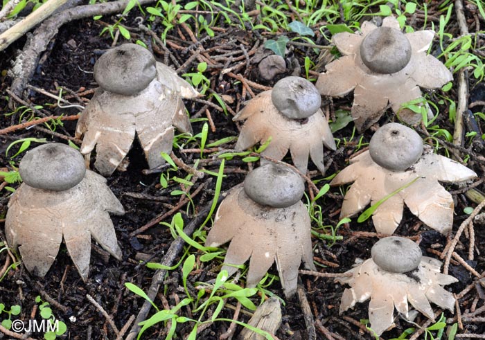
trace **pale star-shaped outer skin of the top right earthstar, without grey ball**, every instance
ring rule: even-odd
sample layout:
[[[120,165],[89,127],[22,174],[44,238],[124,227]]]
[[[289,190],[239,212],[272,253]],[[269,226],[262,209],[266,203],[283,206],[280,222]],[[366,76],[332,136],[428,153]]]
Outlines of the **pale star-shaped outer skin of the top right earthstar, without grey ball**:
[[[382,27],[400,30],[394,17],[386,17]],[[376,123],[387,105],[407,124],[421,121],[421,114],[401,108],[403,103],[422,97],[420,87],[441,88],[453,80],[452,73],[439,60],[427,54],[435,35],[433,30],[403,33],[411,46],[411,58],[406,66],[395,73],[385,74],[371,71],[360,56],[364,37],[378,27],[364,21],[361,33],[337,33],[332,41],[342,57],[327,64],[315,86],[324,96],[341,97],[354,91],[352,117],[359,132],[364,132]],[[429,114],[432,114],[427,107]]]

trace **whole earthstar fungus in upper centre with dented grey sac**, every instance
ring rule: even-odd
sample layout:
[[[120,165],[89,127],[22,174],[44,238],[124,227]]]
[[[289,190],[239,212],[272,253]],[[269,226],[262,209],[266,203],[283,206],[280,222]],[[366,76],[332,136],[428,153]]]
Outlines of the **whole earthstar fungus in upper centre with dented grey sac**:
[[[278,161],[290,150],[293,163],[306,173],[308,154],[323,173],[324,146],[335,150],[335,141],[320,109],[321,97],[311,82],[286,77],[270,91],[249,100],[233,120],[246,120],[236,150],[246,150],[272,138],[261,152]],[[261,159],[261,164],[267,161]]]

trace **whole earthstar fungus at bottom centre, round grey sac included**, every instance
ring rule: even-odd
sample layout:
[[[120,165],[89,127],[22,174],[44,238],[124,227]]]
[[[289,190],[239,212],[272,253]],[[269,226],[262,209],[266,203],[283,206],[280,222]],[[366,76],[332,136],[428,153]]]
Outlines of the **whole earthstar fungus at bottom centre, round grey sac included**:
[[[247,286],[254,287],[274,261],[285,296],[297,290],[301,261],[314,269],[310,217],[300,201],[305,187],[296,172],[268,163],[247,175],[220,204],[206,247],[231,241],[222,269],[229,275],[249,258]]]

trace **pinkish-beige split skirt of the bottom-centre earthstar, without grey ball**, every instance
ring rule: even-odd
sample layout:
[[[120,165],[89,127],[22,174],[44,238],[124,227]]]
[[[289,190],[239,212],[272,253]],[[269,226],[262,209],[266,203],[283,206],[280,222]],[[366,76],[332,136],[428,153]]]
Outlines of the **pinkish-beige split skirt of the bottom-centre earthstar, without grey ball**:
[[[247,286],[254,287],[276,261],[285,296],[297,290],[301,261],[315,270],[310,217],[303,203],[288,208],[261,206],[249,199],[243,186],[233,188],[222,201],[206,239],[206,247],[231,241],[222,269],[229,276],[249,260]]]

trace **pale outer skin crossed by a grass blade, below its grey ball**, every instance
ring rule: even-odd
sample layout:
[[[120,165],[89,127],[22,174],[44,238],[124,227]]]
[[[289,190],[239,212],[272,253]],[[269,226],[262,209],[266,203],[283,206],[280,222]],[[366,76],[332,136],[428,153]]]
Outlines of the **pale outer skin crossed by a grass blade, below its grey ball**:
[[[420,159],[407,171],[382,168],[371,159],[369,150],[351,159],[351,164],[337,174],[330,186],[352,183],[342,204],[340,218],[356,215],[369,204],[393,193],[398,188],[413,184],[392,195],[373,212],[372,220],[378,233],[391,235],[403,217],[404,204],[430,228],[446,234],[453,224],[452,195],[439,181],[456,183],[477,177],[466,166],[445,156],[433,154],[425,147]]]

